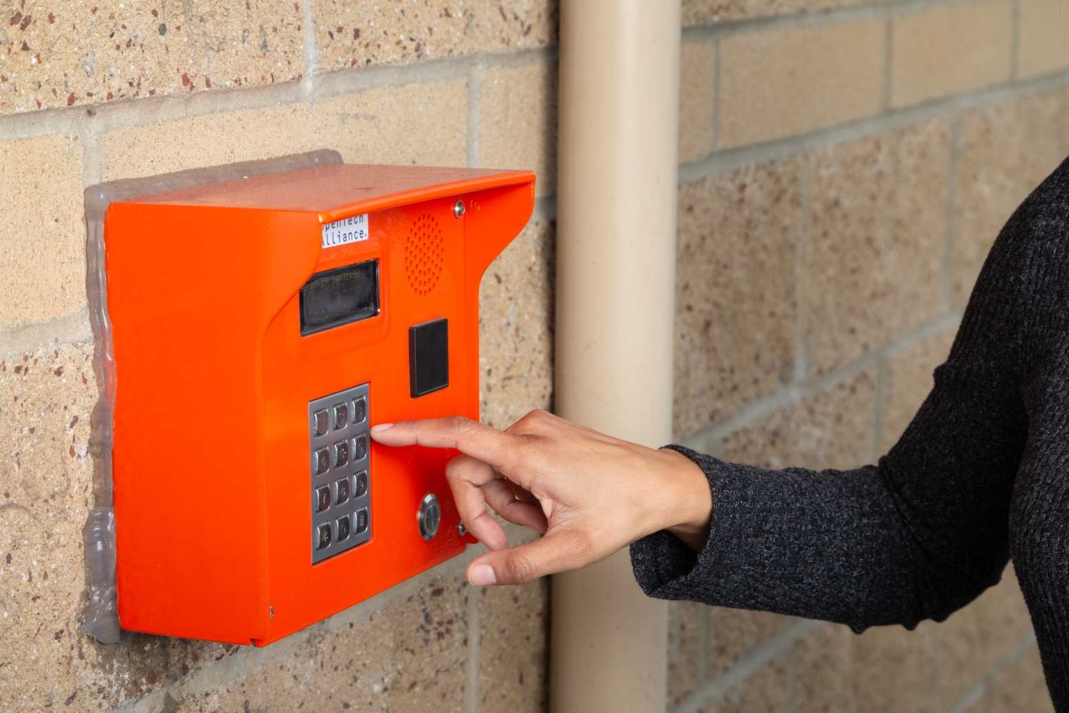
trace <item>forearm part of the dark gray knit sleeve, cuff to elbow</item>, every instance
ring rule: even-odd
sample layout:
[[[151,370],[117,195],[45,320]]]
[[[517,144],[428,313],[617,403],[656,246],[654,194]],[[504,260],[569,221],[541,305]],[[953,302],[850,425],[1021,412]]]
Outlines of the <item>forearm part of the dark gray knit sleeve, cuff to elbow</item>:
[[[715,494],[693,553],[662,531],[632,545],[647,594],[866,625],[923,618],[914,553],[876,468],[764,470],[673,447]]]

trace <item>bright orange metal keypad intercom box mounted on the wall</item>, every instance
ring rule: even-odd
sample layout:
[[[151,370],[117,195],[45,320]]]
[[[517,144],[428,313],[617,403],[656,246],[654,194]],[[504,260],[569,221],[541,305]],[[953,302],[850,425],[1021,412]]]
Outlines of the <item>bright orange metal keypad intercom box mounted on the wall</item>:
[[[266,645],[460,554],[452,453],[371,425],[479,415],[479,282],[534,175],[317,166],[112,203],[124,629]]]

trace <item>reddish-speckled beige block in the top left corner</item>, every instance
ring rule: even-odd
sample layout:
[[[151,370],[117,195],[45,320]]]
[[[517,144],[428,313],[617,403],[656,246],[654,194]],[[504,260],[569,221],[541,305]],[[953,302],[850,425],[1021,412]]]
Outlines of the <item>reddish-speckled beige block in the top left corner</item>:
[[[7,0],[0,9],[0,113],[300,74],[294,0]]]

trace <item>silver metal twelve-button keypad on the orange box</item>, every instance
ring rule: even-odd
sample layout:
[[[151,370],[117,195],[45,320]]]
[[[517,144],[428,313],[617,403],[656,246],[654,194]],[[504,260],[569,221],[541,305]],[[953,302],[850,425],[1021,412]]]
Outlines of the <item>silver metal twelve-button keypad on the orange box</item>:
[[[313,564],[371,539],[370,407],[367,384],[308,404]]]

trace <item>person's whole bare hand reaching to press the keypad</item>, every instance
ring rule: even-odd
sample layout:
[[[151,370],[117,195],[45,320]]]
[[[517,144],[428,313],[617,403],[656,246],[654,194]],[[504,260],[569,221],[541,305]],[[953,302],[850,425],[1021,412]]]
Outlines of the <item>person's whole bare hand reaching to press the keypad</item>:
[[[709,532],[709,481],[688,458],[606,436],[544,410],[505,431],[462,417],[383,423],[384,446],[455,448],[446,477],[465,527],[491,551],[472,585],[523,584],[592,564],[667,529],[693,549]],[[487,512],[545,537],[509,547]]]

